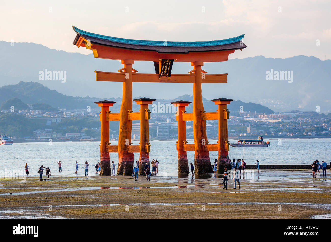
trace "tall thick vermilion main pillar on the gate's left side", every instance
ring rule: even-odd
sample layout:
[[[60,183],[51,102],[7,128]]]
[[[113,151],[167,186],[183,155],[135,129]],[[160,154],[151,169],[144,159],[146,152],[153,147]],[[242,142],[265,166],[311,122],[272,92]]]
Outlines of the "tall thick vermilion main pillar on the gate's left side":
[[[131,175],[133,170],[133,153],[128,153],[126,146],[131,143],[132,121],[128,120],[132,109],[132,64],[134,60],[126,59],[124,64],[123,97],[119,116],[118,167],[117,175]]]

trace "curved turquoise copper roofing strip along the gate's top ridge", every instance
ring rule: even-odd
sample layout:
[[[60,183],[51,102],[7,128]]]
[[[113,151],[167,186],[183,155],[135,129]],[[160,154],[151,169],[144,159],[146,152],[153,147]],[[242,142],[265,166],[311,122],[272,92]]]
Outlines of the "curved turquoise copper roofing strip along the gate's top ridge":
[[[73,30],[80,34],[85,36],[90,36],[94,38],[104,39],[111,42],[118,42],[123,44],[132,44],[132,45],[149,45],[149,46],[164,46],[164,41],[153,41],[153,40],[135,40],[135,39],[122,39],[122,38],[116,38],[106,35],[100,35],[100,34],[94,34],[90,32],[86,32],[84,30],[81,30],[79,28],[76,28],[75,26],[72,26]],[[224,44],[231,44],[241,41],[242,38],[244,38],[245,34],[239,35],[234,38],[229,39],[223,39],[223,40],[213,40],[213,41],[198,41],[198,42],[173,42],[173,41],[167,41],[166,46],[196,46],[196,47],[202,47],[202,46],[216,46],[216,45],[224,45]]]

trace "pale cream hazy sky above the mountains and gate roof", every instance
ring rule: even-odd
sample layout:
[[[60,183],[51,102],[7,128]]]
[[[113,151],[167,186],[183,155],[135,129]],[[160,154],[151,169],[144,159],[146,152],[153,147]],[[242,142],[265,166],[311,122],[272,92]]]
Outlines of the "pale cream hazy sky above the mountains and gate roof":
[[[207,41],[245,33],[230,58],[331,58],[330,0],[1,1],[0,40],[90,54],[71,26],[121,38]],[[316,45],[316,43],[319,45]]]

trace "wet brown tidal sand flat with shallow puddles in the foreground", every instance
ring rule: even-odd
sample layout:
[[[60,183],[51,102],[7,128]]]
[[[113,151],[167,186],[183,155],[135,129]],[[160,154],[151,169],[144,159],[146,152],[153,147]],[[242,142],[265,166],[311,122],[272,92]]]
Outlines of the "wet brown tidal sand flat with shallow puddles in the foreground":
[[[38,177],[0,180],[0,218],[307,219],[331,213],[331,177],[263,170],[223,189],[212,175]],[[252,174],[251,174],[252,175]],[[247,179],[248,178],[248,179]],[[12,193],[10,195],[10,193]]]

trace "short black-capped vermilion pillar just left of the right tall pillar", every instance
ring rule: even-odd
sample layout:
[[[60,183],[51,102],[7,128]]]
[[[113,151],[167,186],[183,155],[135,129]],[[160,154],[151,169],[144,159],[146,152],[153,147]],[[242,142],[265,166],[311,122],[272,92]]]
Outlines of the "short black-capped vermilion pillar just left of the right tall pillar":
[[[178,122],[178,173],[190,173],[186,150],[184,150],[183,147],[183,144],[186,143],[186,122],[183,120],[182,114],[186,112],[185,107],[191,102],[180,100],[171,103],[178,108],[176,113],[176,119]]]

